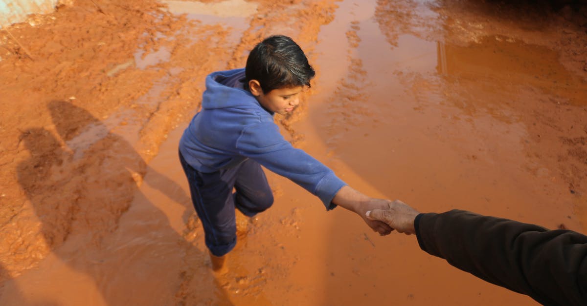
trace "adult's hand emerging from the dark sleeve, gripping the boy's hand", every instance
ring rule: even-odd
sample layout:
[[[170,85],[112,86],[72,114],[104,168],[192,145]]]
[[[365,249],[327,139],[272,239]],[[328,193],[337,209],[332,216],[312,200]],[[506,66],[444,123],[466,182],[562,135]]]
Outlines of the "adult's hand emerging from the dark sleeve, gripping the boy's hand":
[[[397,232],[414,234],[414,220],[419,215],[417,210],[411,208],[400,200],[386,201],[384,209],[373,209],[365,213],[366,220],[384,222]]]

